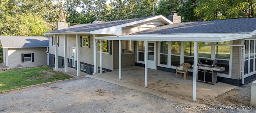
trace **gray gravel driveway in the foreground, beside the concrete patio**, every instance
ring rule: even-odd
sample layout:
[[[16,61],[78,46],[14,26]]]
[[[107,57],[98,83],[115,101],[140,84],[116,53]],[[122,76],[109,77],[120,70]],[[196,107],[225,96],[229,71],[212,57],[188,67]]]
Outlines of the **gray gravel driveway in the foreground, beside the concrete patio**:
[[[88,77],[73,78],[0,94],[5,113],[194,113],[241,112],[255,109],[199,110],[156,95]],[[206,106],[207,107],[207,106]]]

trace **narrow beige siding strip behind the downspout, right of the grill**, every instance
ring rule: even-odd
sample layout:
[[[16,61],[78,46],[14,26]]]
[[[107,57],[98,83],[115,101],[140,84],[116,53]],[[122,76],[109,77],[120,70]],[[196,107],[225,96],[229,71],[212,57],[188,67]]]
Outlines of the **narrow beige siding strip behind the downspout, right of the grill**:
[[[233,41],[234,45],[244,44],[244,40],[235,40]],[[232,51],[232,70],[231,78],[232,79],[241,79],[241,70],[242,70],[242,47],[234,46]]]

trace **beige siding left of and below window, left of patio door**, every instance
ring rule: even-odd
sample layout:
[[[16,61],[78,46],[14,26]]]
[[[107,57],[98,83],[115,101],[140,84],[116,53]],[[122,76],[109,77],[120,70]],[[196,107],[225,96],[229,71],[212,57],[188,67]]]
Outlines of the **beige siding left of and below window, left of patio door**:
[[[119,68],[119,41],[114,41],[114,69]],[[135,66],[135,53],[122,54],[122,67]]]

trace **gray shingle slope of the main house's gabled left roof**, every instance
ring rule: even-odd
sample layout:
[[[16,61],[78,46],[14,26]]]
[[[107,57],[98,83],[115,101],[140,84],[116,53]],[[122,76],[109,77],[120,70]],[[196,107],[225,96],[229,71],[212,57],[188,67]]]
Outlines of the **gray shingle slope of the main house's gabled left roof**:
[[[159,15],[158,15],[159,16]],[[154,16],[149,16],[149,17],[142,17],[142,18],[134,18],[134,19],[124,19],[124,20],[116,20],[116,21],[108,21],[108,22],[99,22],[99,23],[87,23],[87,24],[78,24],[78,25],[73,25],[64,29],[59,29],[56,31],[50,31],[46,33],[76,33],[76,32],[88,32],[88,31],[95,31],[98,29],[104,29],[107,27],[112,27],[116,25],[122,25],[125,23],[130,23],[134,21],[139,21],[142,19],[147,19],[151,18]]]

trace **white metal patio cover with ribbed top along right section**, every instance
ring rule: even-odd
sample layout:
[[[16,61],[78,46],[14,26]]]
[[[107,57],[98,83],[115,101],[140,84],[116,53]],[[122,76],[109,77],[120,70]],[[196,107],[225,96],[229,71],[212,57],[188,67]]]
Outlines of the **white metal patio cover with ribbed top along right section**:
[[[251,33],[203,33],[203,34],[161,34],[161,35],[123,35],[112,37],[95,37],[106,40],[131,40],[131,41],[199,41],[199,42],[224,42],[252,37]]]

